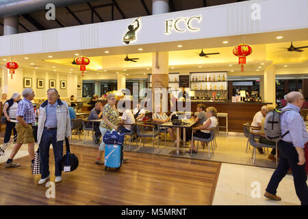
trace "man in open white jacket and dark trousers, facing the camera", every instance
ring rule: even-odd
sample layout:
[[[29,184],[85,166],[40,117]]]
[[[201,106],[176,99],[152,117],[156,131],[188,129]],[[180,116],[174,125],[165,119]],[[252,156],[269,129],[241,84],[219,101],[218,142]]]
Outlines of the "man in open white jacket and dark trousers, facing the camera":
[[[70,114],[65,101],[58,99],[55,88],[47,90],[47,101],[40,105],[38,116],[38,144],[40,146],[40,160],[42,175],[38,184],[45,183],[49,173],[49,146],[53,144],[55,157],[55,183],[62,181],[61,159],[63,156],[63,141],[70,137]]]

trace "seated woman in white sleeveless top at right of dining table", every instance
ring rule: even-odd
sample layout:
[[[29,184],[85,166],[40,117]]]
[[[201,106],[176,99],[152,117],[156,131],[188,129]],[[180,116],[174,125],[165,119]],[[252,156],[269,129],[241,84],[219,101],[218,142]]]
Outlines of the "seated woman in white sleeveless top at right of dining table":
[[[217,110],[215,107],[207,107],[206,109],[207,114],[207,120],[203,123],[203,125],[196,127],[197,131],[194,133],[194,137],[198,138],[209,138],[211,137],[211,131],[210,130],[204,130],[204,129],[212,129],[216,127],[217,125]],[[196,146],[194,146],[194,140],[191,139],[190,136],[190,150],[188,153],[197,153]]]

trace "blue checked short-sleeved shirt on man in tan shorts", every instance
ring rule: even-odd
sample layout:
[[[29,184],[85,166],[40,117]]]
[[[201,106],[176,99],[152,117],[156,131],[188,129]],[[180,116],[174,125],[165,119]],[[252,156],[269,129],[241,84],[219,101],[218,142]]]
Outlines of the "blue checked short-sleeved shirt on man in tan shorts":
[[[21,102],[18,103],[16,116],[23,116],[23,120],[25,120],[26,123],[34,123],[36,114],[34,113],[34,107],[31,101],[27,98],[22,99]]]

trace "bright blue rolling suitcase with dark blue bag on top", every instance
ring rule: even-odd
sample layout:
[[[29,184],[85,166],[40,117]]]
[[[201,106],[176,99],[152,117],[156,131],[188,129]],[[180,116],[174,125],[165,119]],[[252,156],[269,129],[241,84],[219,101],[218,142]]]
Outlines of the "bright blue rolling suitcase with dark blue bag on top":
[[[107,131],[103,141],[105,143],[105,170],[108,168],[119,170],[123,163],[124,134],[115,130]]]

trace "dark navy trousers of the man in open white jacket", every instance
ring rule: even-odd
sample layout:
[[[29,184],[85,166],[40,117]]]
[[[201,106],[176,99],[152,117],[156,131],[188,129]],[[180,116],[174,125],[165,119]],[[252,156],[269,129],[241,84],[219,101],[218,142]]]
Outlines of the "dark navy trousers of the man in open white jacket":
[[[40,162],[42,164],[41,178],[49,176],[49,147],[53,144],[53,155],[55,157],[55,177],[61,177],[61,159],[63,156],[63,141],[57,142],[57,130],[44,129],[42,140],[40,140]]]

